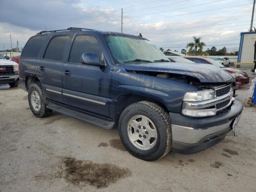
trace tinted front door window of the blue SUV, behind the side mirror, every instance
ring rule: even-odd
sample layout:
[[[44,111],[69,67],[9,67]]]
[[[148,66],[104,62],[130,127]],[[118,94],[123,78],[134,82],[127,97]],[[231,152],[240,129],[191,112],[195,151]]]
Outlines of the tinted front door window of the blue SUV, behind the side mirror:
[[[91,35],[77,35],[72,45],[68,62],[81,63],[83,53],[96,53],[102,60],[103,54],[98,40]]]

